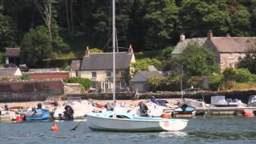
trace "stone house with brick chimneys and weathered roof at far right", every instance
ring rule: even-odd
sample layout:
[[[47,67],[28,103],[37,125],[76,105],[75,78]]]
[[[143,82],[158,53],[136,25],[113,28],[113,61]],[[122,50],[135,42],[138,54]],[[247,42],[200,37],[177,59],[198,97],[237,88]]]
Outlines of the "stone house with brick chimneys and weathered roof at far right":
[[[206,46],[216,54],[218,66],[221,70],[234,68],[240,58],[246,56],[246,50],[256,45],[256,37],[214,37],[211,30],[206,34],[206,38],[185,38],[184,34],[180,35],[180,41],[175,46],[172,54],[181,54],[189,43],[197,43],[199,46]]]

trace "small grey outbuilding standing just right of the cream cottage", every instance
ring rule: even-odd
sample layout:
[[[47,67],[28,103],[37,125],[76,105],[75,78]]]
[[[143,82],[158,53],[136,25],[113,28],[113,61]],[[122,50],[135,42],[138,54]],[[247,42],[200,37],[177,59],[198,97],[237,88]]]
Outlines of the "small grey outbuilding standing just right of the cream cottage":
[[[158,71],[140,71],[130,79],[130,87],[138,92],[149,91],[147,79],[151,77],[162,77]]]

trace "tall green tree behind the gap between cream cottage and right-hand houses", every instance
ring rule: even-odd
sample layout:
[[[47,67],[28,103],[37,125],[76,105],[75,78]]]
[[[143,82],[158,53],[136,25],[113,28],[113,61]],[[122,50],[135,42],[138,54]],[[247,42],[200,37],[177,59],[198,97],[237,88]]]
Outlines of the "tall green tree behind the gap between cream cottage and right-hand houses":
[[[174,0],[150,0],[146,6],[145,46],[159,50],[170,46],[178,22],[178,6]]]

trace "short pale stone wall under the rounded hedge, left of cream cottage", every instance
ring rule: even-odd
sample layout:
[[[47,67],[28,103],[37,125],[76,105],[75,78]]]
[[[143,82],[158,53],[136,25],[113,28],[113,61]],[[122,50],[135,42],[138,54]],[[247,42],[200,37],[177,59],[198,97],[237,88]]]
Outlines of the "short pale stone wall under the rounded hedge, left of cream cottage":
[[[84,94],[85,90],[79,83],[65,83],[64,94]]]

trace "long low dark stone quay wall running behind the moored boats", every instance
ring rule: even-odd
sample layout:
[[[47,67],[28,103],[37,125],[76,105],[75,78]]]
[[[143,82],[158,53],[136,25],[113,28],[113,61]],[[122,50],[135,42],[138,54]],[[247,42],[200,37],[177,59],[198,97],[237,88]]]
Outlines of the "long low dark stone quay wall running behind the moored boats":
[[[187,93],[183,95],[183,98],[204,99],[206,103],[210,103],[211,96],[225,95],[226,98],[238,98],[244,103],[248,103],[250,95],[255,95],[256,90],[234,90],[234,91],[201,91],[197,93]],[[117,100],[132,100],[134,99],[134,93],[116,93]],[[182,98],[180,92],[158,92],[158,93],[140,93],[138,99],[146,99],[154,96],[154,98]],[[66,97],[82,97],[83,99],[98,99],[98,100],[111,100],[112,94],[68,94]]]

